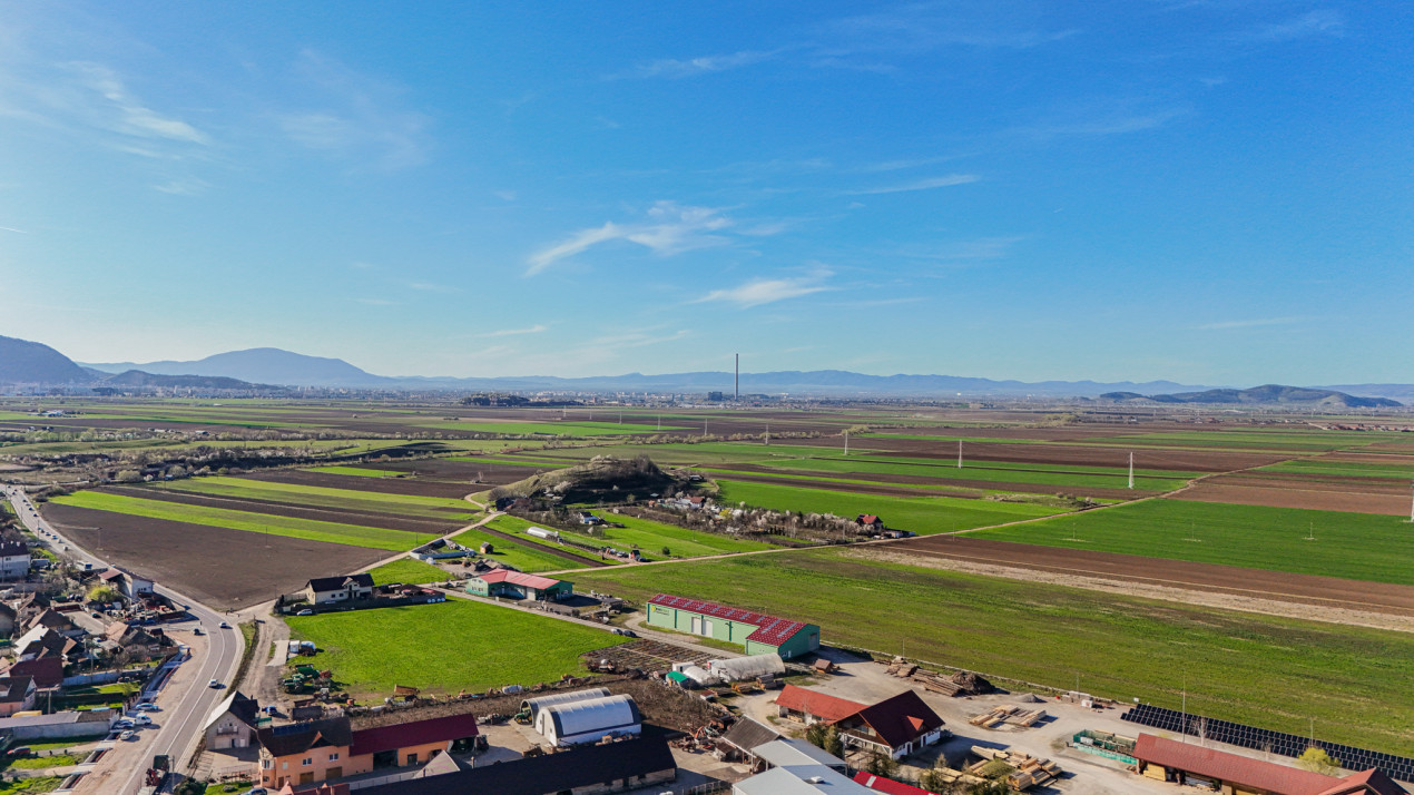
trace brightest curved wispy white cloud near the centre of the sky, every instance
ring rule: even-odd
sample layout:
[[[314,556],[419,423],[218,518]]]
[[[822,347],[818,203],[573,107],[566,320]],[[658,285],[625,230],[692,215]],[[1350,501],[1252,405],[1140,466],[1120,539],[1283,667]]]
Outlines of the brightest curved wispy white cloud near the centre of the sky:
[[[561,259],[575,256],[611,240],[628,240],[667,256],[693,249],[725,245],[715,232],[732,225],[721,211],[707,207],[683,207],[660,201],[648,211],[648,221],[638,224],[605,222],[604,226],[580,229],[567,239],[544,248],[526,260],[526,276],[534,276]]]

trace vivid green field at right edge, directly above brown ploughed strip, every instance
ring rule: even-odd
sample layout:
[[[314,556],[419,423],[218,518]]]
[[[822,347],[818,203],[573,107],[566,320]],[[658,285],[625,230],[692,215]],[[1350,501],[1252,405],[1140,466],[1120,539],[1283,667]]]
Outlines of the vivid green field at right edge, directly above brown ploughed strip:
[[[1414,584],[1414,532],[1400,516],[1376,513],[1150,499],[969,535]]]

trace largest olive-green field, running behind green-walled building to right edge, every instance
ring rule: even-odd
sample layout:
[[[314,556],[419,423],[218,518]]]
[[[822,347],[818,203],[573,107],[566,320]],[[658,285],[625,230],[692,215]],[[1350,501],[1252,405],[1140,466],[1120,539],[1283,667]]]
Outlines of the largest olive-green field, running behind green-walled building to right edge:
[[[633,600],[683,594],[820,625],[875,649],[1120,702],[1396,754],[1414,753],[1414,635],[943,571],[830,549],[602,569],[575,577]],[[1360,716],[1352,720],[1350,716]]]

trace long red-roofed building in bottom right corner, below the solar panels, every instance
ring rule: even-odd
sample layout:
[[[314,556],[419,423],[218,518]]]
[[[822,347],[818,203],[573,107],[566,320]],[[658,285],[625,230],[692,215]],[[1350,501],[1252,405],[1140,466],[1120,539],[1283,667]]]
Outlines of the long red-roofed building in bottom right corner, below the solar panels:
[[[1336,778],[1152,734],[1140,734],[1134,758],[1145,778],[1233,795],[1404,795],[1374,768]]]

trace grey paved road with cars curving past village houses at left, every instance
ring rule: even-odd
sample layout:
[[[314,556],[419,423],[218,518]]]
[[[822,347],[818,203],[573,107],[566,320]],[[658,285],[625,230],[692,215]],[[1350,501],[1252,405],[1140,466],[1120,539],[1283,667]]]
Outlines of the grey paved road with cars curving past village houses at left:
[[[44,522],[24,489],[8,485],[3,489],[14,506],[16,515],[33,533],[40,538],[49,538],[44,533],[52,533],[58,536],[59,543],[68,545],[69,550],[62,553],[65,557],[79,564],[107,566],[105,560],[81,549],[72,539],[64,538],[48,522]],[[206,682],[216,679],[228,686],[232,683],[245,646],[240,631],[236,628],[222,629],[223,615],[206,605],[161,586],[156,586],[154,590],[178,604],[188,605],[187,611],[201,621],[208,632],[205,651],[201,651],[201,644],[192,644],[194,658],[178,666],[168,685],[156,696],[156,703],[163,709],[156,716],[160,729],[139,731],[136,743],[122,743],[119,748],[106,754],[93,771],[83,777],[76,792],[102,792],[105,795],[137,792],[154,754],[170,754],[175,770],[182,770],[188,754],[197,748],[202,724],[211,710],[229,695],[228,687],[208,687]],[[139,753],[134,754],[134,751]]]

